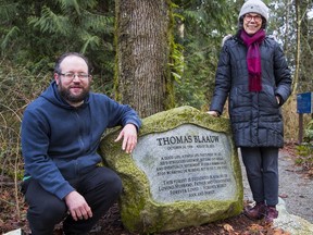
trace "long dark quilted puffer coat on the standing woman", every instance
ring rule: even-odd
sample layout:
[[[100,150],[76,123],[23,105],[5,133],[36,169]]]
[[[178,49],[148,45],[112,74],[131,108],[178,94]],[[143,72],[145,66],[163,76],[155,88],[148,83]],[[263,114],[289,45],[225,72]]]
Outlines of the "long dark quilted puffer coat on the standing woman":
[[[228,97],[229,116],[237,147],[283,147],[281,104],[291,92],[291,75],[283,50],[273,38],[260,46],[262,90],[249,91],[247,47],[233,36],[223,46],[210,110],[223,112]],[[276,97],[280,98],[279,104]]]

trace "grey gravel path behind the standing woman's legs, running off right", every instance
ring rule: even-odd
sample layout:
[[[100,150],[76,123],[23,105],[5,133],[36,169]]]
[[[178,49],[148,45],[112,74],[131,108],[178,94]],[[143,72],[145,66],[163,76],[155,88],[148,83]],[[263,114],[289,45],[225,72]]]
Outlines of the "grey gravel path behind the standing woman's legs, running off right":
[[[243,177],[245,200],[251,200],[252,195],[247,181],[246,170],[241,169]],[[313,180],[305,177],[300,166],[296,166],[288,153],[279,152],[279,197],[286,202],[287,211],[313,223]]]

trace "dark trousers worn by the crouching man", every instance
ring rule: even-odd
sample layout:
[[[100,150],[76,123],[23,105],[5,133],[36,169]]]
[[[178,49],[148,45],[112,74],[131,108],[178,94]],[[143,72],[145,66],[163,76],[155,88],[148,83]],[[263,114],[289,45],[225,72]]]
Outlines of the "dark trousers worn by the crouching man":
[[[32,235],[52,235],[54,225],[63,220],[65,234],[87,234],[122,193],[121,178],[108,168],[96,168],[68,182],[85,198],[91,208],[92,218],[74,221],[67,214],[64,200],[45,190],[36,180],[29,178],[23,182],[22,191],[28,203],[27,220]]]

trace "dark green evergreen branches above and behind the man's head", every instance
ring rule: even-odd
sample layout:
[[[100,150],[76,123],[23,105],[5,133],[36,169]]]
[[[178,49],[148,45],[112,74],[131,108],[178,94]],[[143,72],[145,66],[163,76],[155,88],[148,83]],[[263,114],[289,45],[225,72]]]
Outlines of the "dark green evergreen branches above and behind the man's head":
[[[98,85],[113,87],[114,1],[5,0],[0,3],[1,55],[34,74],[77,51],[93,63]],[[104,91],[108,90],[103,88]]]

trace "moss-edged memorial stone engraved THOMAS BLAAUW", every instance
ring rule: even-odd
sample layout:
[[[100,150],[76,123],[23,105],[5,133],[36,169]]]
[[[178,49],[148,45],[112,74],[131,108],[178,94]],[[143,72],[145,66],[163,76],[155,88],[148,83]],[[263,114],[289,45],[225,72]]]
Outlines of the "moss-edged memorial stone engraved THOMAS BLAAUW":
[[[132,154],[108,134],[100,151],[104,164],[123,181],[120,200],[124,226],[155,233],[239,214],[243,188],[229,120],[191,107],[142,120]]]

